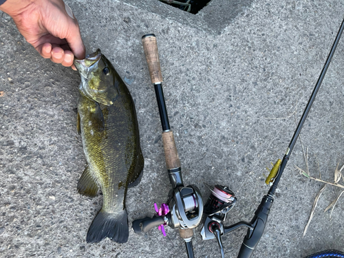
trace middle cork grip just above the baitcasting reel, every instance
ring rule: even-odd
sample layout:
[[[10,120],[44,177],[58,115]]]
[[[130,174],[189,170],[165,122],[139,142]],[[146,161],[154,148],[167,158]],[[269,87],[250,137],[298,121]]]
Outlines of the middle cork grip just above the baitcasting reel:
[[[164,144],[166,169],[175,169],[180,167],[178,151],[175,147],[172,131],[164,131],[162,133],[162,143]]]

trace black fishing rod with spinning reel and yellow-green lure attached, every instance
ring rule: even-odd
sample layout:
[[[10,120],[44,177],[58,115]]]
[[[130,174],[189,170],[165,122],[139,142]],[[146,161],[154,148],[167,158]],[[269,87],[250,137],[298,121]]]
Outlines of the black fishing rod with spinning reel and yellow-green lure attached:
[[[274,202],[274,195],[277,189],[277,185],[279,184],[282,173],[286,168],[290,154],[292,153],[292,149],[294,149],[294,145],[297,142],[297,138],[299,137],[305,119],[307,118],[308,113],[310,112],[310,108],[314,103],[316,94],[318,93],[321,83],[323,82],[323,78],[327,72],[327,68],[330,65],[332,56],[336,51],[336,47],[338,45],[339,39],[341,39],[343,30],[344,20],[342,21],[341,27],[339,28],[338,34],[336,35],[336,39],[334,40],[334,43],[330,50],[330,54],[327,56],[325,65],[321,70],[321,74],[310,96],[310,100],[308,100],[305,110],[303,111],[303,114],[299,121],[299,125],[297,125],[297,129],[294,131],[294,135],[290,140],[287,151],[283,156],[283,159],[277,160],[275,166],[273,166],[270,171],[270,175],[266,180],[266,183],[270,184],[270,189],[268,191],[268,194],[264,195],[263,199],[261,200],[261,203],[255,211],[255,215],[252,220],[250,222],[238,222],[236,224],[233,224],[232,226],[224,227],[223,223],[226,219],[226,214],[235,205],[236,198],[234,196],[234,193],[230,191],[227,186],[215,185],[213,190],[210,189],[211,195],[208,198],[208,202],[204,206],[206,221],[204,222],[201,235],[204,240],[213,238],[217,239],[222,257],[224,257],[224,248],[222,246],[221,235],[230,233],[231,231],[240,228],[241,226],[247,227],[248,230],[246,236],[244,237],[244,241],[241,244],[239,255],[237,256],[238,258],[250,258],[253,251],[255,250],[255,247],[259,243],[259,240],[264,233],[268,215],[270,213],[270,208],[272,206],[272,203]]]

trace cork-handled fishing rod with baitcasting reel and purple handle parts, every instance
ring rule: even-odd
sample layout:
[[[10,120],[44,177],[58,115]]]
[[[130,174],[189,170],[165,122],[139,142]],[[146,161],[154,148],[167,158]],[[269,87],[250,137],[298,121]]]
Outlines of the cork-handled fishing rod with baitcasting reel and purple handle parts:
[[[154,204],[156,215],[152,218],[136,219],[132,227],[135,233],[148,232],[151,228],[158,226],[162,234],[166,235],[164,226],[178,228],[180,237],[184,239],[186,252],[189,258],[193,258],[193,246],[191,239],[193,237],[193,228],[200,224],[203,214],[202,195],[197,186],[191,184],[184,186],[182,180],[182,169],[178,156],[177,147],[173,131],[169,125],[169,116],[167,115],[164,92],[162,90],[162,74],[158,56],[158,45],[154,34],[145,34],[142,36],[142,45],[147,59],[149,75],[154,85],[155,97],[158,103],[160,121],[162,125],[162,143],[166,160],[166,169],[172,189],[169,191],[169,197],[166,204],[158,208]]]

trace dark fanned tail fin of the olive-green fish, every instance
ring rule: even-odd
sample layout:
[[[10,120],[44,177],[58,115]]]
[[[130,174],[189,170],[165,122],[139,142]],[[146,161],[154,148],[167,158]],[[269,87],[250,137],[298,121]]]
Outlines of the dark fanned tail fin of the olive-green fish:
[[[87,232],[87,243],[98,243],[105,237],[112,241],[125,243],[129,237],[127,211],[106,213],[101,209]]]

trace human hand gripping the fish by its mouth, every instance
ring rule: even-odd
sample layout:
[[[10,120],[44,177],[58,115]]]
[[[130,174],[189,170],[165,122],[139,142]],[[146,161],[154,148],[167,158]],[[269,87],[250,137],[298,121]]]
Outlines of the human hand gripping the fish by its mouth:
[[[43,58],[73,69],[74,56],[85,58],[78,21],[62,0],[7,0],[0,10]]]

